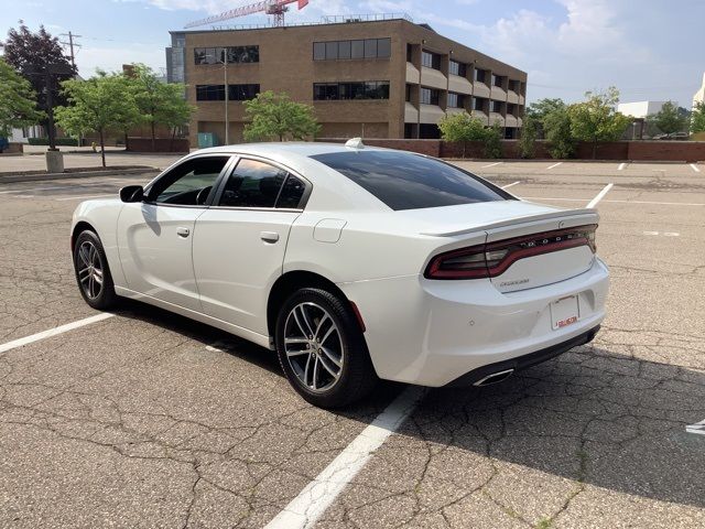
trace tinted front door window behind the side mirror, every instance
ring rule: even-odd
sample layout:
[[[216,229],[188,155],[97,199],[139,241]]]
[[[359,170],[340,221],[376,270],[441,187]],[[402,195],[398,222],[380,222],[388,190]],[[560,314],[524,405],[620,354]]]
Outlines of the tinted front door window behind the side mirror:
[[[186,160],[152,186],[148,201],[155,204],[202,206],[230,156],[203,156]]]

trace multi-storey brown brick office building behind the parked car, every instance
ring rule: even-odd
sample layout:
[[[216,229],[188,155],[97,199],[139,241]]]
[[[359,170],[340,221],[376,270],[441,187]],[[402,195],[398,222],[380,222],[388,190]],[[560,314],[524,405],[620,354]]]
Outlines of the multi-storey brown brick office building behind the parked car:
[[[286,91],[315,107],[321,137],[437,138],[438,119],[467,111],[516,138],[527,74],[405,18],[238,30],[172,32],[170,80],[185,82],[198,132],[242,139],[243,99]],[[226,56],[227,50],[227,56]]]

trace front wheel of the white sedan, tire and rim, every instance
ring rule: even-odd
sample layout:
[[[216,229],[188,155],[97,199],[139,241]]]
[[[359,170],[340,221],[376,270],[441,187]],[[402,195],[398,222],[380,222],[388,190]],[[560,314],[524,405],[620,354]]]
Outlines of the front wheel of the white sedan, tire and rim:
[[[117,304],[108,258],[95,231],[87,229],[76,237],[74,271],[80,295],[91,307],[105,311]]]

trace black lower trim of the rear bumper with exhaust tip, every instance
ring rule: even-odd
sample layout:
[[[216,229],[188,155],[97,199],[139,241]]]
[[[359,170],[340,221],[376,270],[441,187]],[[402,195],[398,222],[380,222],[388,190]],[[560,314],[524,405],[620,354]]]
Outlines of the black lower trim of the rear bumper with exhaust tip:
[[[552,345],[550,347],[529,353],[528,355],[518,356],[510,360],[497,361],[495,364],[478,367],[477,369],[473,369],[471,371],[459,376],[452,382],[448,382],[447,387],[484,386],[485,384],[479,382],[488,380],[488,378],[494,374],[508,373],[509,375],[513,375],[517,371],[521,371],[522,369],[527,369],[528,367],[535,366],[536,364],[541,364],[562,355],[563,353],[571,350],[573,347],[589,344],[595,338],[598,331],[599,325],[590,328],[587,333],[583,333],[579,336],[567,339],[561,344]]]

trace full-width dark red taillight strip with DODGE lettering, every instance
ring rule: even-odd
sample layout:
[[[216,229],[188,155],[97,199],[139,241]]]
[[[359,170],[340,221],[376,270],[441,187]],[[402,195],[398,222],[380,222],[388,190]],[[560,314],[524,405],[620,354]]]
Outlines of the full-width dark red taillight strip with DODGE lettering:
[[[495,278],[505,273],[512,263],[528,257],[578,246],[587,246],[595,253],[596,229],[597,225],[593,224],[446,251],[431,259],[424,277],[427,279]]]

